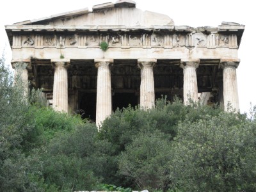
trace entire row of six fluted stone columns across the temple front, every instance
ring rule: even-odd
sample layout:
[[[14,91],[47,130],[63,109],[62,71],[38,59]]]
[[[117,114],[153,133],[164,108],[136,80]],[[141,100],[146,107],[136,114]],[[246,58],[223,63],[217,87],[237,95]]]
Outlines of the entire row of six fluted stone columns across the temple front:
[[[51,60],[55,68],[52,107],[56,111],[68,111],[68,74],[67,68],[70,64],[69,60],[54,61]],[[140,84],[140,106],[143,109],[154,108],[154,73],[153,68],[156,65],[156,59],[138,60],[138,67],[141,69]],[[97,75],[97,104],[96,104],[96,124],[99,127],[101,122],[105,120],[112,112],[111,100],[111,73],[109,65],[113,60],[95,60],[95,67],[98,68]],[[198,87],[196,79],[196,68],[200,63],[199,59],[182,59],[180,67],[183,68],[184,85],[183,95],[184,104],[189,104],[190,100],[198,101]],[[225,111],[232,109],[239,111],[239,100],[237,92],[236,68],[239,60],[221,60],[220,67],[223,68],[223,97]],[[20,76],[24,81],[26,94],[28,93],[28,69],[23,67],[20,70]],[[17,76],[17,73],[15,72]]]

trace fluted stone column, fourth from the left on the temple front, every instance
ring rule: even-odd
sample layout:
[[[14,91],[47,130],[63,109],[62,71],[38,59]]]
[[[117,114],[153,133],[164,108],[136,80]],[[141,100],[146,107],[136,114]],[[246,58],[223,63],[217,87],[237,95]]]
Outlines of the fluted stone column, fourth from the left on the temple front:
[[[153,67],[156,65],[156,59],[138,60],[138,66],[141,69],[140,80],[140,107],[151,109],[155,106],[155,87]]]

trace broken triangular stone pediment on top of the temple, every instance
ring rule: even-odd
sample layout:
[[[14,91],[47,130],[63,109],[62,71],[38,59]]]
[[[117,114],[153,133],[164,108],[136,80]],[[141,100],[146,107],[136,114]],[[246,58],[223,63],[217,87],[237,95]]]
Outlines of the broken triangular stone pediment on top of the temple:
[[[173,20],[168,15],[137,9],[136,3],[131,0],[120,0],[116,1],[116,3],[110,2],[95,5],[92,10],[92,12],[89,12],[88,8],[84,8],[15,24],[52,26],[174,26]]]

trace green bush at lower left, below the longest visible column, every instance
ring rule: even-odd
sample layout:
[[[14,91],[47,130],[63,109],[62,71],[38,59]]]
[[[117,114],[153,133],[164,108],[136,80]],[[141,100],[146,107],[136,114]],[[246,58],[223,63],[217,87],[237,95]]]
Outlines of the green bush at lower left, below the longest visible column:
[[[79,125],[73,132],[54,138],[45,148],[45,182],[61,190],[93,190],[101,180],[111,179],[111,153],[110,143],[97,140],[95,124]]]

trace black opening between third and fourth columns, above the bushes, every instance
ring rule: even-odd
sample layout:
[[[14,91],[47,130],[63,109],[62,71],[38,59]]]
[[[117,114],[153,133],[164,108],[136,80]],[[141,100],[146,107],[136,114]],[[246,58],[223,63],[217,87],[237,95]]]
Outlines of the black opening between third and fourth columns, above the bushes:
[[[115,93],[112,97],[112,109],[127,108],[131,104],[132,107],[138,105],[138,96],[135,93]]]

